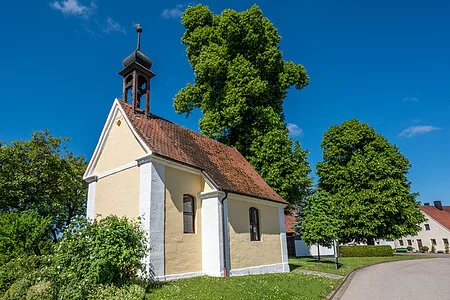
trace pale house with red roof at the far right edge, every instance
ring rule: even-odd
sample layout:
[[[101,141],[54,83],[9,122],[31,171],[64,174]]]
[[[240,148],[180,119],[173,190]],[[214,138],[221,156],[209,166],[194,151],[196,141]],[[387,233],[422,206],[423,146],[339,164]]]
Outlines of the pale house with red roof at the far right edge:
[[[419,209],[427,219],[420,224],[422,230],[417,235],[395,240],[395,247],[412,246],[415,251],[419,251],[422,246],[431,250],[434,245],[436,251],[445,251],[445,244],[450,240],[450,206],[434,201],[434,206],[425,203]]]

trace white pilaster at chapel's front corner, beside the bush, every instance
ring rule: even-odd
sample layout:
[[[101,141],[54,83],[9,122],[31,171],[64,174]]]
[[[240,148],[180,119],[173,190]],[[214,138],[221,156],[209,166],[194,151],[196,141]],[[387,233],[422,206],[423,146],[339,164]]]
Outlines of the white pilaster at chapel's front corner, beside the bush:
[[[140,168],[139,215],[149,234],[149,255],[144,262],[156,278],[164,277],[164,166],[152,162],[150,157],[138,160]]]

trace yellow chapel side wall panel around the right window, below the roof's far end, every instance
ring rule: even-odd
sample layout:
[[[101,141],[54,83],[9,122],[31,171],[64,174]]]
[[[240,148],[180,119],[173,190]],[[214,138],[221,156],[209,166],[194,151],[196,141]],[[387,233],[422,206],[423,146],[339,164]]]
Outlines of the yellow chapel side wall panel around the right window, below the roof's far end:
[[[259,212],[260,241],[250,241],[249,209]],[[231,270],[282,263],[278,207],[228,199]]]

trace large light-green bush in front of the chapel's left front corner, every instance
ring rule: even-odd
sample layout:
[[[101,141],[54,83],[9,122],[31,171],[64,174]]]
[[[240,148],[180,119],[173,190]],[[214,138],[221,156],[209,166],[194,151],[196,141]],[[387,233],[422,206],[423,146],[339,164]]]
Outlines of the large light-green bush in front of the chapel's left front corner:
[[[53,293],[60,299],[85,299],[96,285],[123,286],[145,271],[145,232],[139,223],[109,216],[79,219],[64,232],[55,249]]]

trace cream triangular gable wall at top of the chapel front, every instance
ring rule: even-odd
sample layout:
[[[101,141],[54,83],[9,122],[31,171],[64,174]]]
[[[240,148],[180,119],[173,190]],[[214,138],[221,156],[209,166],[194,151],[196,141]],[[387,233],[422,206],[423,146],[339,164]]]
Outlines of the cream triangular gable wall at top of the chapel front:
[[[121,167],[145,154],[122,113],[117,110],[92,175]]]

